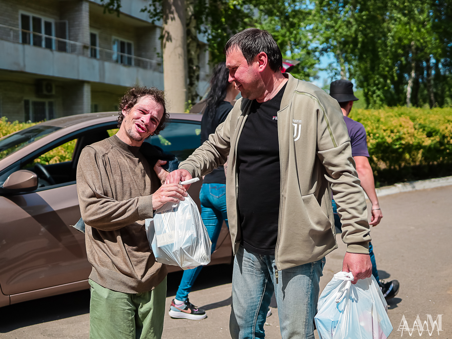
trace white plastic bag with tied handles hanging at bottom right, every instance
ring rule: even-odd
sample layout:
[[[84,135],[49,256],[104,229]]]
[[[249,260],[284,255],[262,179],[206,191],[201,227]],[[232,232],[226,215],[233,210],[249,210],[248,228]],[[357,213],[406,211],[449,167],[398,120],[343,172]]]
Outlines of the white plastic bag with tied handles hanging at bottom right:
[[[386,339],[392,331],[386,303],[377,280],[338,272],[319,298],[315,326],[320,339]]]

